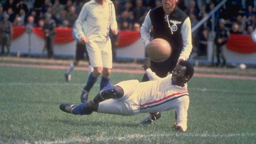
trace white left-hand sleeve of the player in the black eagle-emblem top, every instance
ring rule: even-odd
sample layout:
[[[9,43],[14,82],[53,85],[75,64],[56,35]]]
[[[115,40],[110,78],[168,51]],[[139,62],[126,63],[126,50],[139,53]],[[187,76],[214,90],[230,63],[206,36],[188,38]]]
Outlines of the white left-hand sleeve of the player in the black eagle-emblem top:
[[[149,12],[150,12],[150,10],[149,10]],[[152,27],[151,20],[149,17],[149,12],[147,13],[145,20],[140,28],[140,37],[142,38],[145,47],[147,47],[147,45],[150,42],[149,33],[150,33],[150,28]]]

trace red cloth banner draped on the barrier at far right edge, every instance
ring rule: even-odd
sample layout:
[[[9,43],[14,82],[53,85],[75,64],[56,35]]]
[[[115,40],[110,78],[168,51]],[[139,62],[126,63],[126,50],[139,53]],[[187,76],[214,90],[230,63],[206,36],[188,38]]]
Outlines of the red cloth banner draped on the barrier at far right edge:
[[[244,54],[254,53],[256,52],[256,42],[252,40],[251,35],[230,34],[227,49]]]

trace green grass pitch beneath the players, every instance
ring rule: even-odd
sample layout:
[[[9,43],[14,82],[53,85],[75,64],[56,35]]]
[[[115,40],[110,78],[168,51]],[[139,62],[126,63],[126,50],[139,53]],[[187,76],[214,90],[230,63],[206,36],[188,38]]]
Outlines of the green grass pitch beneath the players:
[[[188,83],[186,132],[175,132],[174,111],[152,125],[147,116],[92,113],[74,116],[61,103],[80,104],[87,71],[0,66],[0,143],[256,144],[256,81],[194,77]],[[142,74],[112,73],[111,83],[141,80]],[[99,81],[89,99],[99,90]]]

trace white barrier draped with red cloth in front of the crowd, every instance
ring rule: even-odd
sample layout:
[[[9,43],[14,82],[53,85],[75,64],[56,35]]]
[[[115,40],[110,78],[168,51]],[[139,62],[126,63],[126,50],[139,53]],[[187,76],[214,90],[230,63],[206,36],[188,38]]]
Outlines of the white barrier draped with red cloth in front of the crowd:
[[[145,47],[139,31],[120,31],[116,49],[117,59],[144,59]],[[41,55],[45,45],[41,28],[33,28],[29,35],[24,26],[14,26],[11,53]],[[224,50],[227,62],[256,64],[256,43],[251,35],[230,35]],[[214,46],[209,41],[207,60],[211,61]],[[71,28],[56,28],[55,56],[74,57],[76,40]],[[45,52],[46,53],[46,52]]]

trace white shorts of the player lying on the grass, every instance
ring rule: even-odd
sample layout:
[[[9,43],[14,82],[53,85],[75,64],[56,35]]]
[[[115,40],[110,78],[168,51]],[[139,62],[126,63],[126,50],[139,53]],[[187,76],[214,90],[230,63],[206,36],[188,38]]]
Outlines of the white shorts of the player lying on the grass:
[[[138,84],[138,80],[127,80],[116,84],[123,88],[123,97],[120,99],[107,99],[100,102],[97,112],[122,116],[134,116],[140,113],[140,104],[137,92]]]

